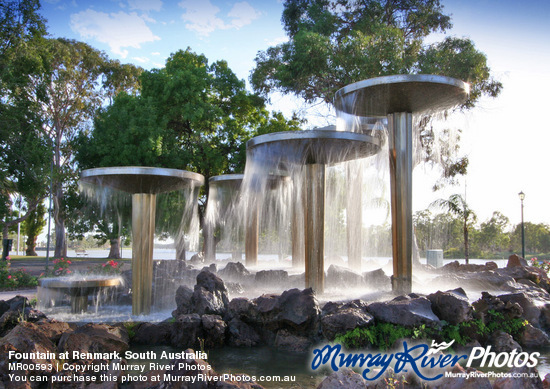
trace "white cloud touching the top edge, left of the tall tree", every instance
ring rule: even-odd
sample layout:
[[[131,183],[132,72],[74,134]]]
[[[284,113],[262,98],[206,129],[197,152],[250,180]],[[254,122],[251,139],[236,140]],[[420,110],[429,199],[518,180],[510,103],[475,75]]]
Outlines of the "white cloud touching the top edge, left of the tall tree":
[[[178,5],[185,11],[181,15],[181,18],[187,22],[185,27],[202,36],[208,36],[215,30],[239,29],[260,16],[260,13],[246,1],[233,5],[227,14],[229,22],[217,16],[220,9],[210,0],[183,0]]]

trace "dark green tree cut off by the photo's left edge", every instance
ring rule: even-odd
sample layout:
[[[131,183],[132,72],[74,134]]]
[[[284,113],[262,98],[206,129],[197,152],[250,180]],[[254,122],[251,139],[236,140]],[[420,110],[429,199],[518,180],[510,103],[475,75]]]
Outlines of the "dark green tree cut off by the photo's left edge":
[[[34,48],[46,33],[38,1],[0,4],[0,225],[8,230],[29,217],[46,195],[48,147],[39,136],[38,104],[30,86],[42,70]],[[40,102],[45,101],[39,96]],[[12,199],[23,198],[26,212],[14,217]]]

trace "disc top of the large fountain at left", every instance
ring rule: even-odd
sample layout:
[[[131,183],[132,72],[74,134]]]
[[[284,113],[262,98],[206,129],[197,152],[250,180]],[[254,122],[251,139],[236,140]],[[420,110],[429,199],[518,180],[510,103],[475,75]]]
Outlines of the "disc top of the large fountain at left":
[[[87,169],[82,171],[81,180],[128,193],[163,193],[204,184],[204,176],[198,173],[143,166]]]

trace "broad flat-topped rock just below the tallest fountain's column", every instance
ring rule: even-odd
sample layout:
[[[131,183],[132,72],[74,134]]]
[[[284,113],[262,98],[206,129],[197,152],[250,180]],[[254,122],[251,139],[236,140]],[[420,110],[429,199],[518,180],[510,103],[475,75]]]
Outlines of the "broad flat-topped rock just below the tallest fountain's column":
[[[370,304],[367,309],[377,320],[406,327],[422,324],[438,326],[439,319],[433,313],[431,302],[425,297],[399,296],[391,301]]]

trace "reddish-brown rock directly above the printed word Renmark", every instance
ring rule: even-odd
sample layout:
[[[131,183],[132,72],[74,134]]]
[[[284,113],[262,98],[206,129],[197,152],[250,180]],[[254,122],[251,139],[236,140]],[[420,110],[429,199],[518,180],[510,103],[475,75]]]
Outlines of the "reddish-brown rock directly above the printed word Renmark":
[[[123,326],[88,323],[72,332],[64,333],[58,344],[58,350],[80,352],[119,352],[129,349],[128,332]]]

